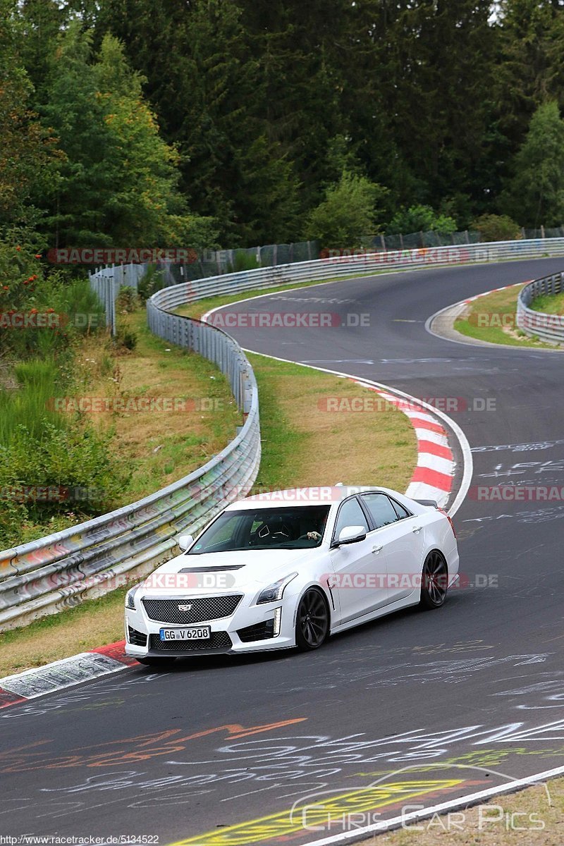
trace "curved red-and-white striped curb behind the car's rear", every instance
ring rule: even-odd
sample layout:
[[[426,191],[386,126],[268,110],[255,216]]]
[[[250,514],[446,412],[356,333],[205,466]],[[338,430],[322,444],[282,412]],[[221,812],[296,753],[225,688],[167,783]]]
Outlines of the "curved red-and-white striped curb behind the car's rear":
[[[435,499],[441,508],[445,508],[452,493],[456,462],[449,446],[448,433],[438,417],[415,399],[410,401],[396,397],[362,379],[354,379],[353,382],[375,391],[386,403],[395,405],[409,418],[417,438],[417,466],[406,495],[412,499]]]

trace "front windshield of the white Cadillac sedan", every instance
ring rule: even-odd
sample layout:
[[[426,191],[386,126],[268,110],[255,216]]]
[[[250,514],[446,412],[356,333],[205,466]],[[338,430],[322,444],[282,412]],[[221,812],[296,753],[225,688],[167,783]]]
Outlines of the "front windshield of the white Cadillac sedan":
[[[226,511],[202,532],[186,554],[319,547],[329,508],[329,505],[305,505]]]

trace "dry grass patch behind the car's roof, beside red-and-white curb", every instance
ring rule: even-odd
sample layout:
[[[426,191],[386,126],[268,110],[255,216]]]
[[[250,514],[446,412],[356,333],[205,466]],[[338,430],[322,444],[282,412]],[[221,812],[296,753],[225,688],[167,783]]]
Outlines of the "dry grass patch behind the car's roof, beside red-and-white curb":
[[[376,394],[339,376],[249,354],[260,397],[263,457],[257,486],[380,484],[405,490],[417,461],[413,428],[401,411],[379,409]],[[365,404],[364,404],[365,401]]]

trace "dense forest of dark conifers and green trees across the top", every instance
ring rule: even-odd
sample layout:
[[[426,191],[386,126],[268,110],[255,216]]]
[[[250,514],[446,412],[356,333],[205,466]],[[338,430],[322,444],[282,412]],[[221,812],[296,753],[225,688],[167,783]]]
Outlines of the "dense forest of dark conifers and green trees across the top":
[[[0,239],[559,226],[562,106],[560,0],[0,0]]]

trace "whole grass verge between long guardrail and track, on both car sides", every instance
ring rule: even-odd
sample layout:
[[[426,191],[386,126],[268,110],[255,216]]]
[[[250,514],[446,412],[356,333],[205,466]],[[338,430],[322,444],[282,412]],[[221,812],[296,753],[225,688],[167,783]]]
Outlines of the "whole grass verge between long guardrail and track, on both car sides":
[[[259,385],[263,455],[256,486],[378,483],[405,490],[416,462],[413,428],[401,411],[377,410],[375,393],[261,355],[249,356]],[[167,373],[171,371],[167,371]],[[326,411],[327,399],[361,398],[373,411]],[[329,406],[331,407],[331,405]],[[114,591],[0,638],[0,676],[123,638],[123,594]]]

